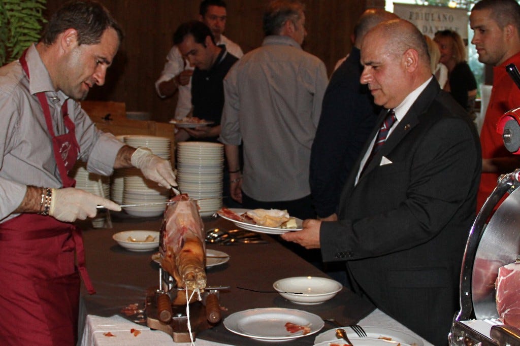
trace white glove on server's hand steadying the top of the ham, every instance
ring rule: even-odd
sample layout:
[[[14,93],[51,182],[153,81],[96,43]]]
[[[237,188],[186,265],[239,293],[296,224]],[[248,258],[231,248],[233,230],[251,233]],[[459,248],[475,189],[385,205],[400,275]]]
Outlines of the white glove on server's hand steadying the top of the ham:
[[[139,168],[146,178],[157,182],[162,187],[170,189],[177,186],[170,161],[154,155],[150,149],[137,148],[130,162],[132,166]]]

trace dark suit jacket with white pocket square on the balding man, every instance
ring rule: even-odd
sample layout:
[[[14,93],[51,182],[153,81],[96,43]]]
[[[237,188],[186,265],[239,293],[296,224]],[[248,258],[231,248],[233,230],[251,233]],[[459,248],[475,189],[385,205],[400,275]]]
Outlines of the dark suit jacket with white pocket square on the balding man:
[[[392,163],[380,165],[383,156]],[[361,158],[340,221],[321,225],[323,260],[347,260],[356,292],[445,345],[482,166],[475,126],[433,78],[354,186]]]

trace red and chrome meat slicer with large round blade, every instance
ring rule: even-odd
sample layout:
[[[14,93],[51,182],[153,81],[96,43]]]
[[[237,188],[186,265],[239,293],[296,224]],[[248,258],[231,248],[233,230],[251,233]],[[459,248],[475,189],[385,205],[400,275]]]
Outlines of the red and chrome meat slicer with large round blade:
[[[520,73],[506,66],[520,88]],[[520,154],[520,108],[506,112],[497,125],[505,148]],[[520,254],[520,169],[500,177],[480,209],[467,239],[460,276],[460,311],[453,319],[450,345],[520,345],[520,330],[497,320],[495,281],[498,269]],[[504,200],[488,223],[493,209]],[[520,299],[520,297],[519,297]],[[495,324],[495,325],[492,325]]]

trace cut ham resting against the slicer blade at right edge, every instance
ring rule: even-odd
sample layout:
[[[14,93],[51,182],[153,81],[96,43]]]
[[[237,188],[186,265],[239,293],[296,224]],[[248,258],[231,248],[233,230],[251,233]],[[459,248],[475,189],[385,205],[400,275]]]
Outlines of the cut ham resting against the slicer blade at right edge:
[[[498,269],[497,311],[500,320],[520,328],[520,263],[510,263]]]

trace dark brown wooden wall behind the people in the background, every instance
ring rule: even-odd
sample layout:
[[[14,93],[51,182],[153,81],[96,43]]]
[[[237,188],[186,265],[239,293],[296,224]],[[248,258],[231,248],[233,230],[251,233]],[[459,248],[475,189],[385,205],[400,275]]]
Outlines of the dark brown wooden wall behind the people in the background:
[[[195,0],[100,0],[121,24],[125,39],[107,74],[106,84],[90,90],[88,100],[125,102],[128,111],[147,111],[152,119],[167,122],[172,116],[176,96],[160,99],[154,88],[172,46],[177,26],[198,19]],[[46,15],[65,0],[47,0]],[[352,44],[357,18],[367,3],[384,7],[384,0],[304,0],[308,35],[303,48],[319,57],[329,75],[336,61]],[[268,0],[227,0],[226,36],[244,52],[262,43],[262,14]]]

